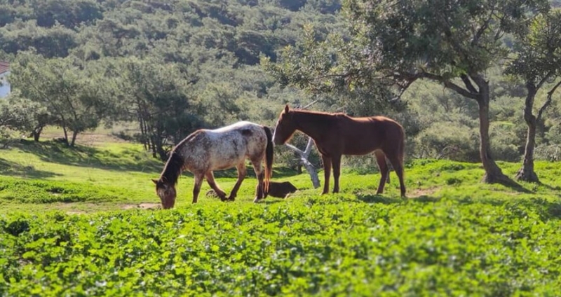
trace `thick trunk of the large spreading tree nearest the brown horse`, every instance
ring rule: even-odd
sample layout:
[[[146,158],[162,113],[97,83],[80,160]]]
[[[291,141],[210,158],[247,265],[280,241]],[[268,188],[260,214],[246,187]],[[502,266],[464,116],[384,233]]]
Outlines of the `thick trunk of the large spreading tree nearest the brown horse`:
[[[503,184],[505,186],[515,186],[516,183],[503,174],[501,168],[496,165],[491,153],[491,141],[489,139],[489,83],[478,84],[480,96],[477,100],[479,106],[479,133],[480,147],[479,154],[485,175],[483,182],[487,184]]]

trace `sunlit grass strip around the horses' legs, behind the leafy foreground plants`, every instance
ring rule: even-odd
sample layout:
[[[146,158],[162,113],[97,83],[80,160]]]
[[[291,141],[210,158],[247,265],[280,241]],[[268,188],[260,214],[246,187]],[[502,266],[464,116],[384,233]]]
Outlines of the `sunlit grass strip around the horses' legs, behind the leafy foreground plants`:
[[[101,137],[98,137],[101,138]],[[72,212],[97,212],[107,209],[123,209],[128,205],[158,203],[151,179],[158,177],[163,162],[152,158],[139,144],[125,141],[108,141],[103,146],[77,144],[69,148],[55,141],[33,143],[25,141],[0,151],[0,209],[41,211],[65,209]],[[346,157],[352,158],[352,157]],[[514,176],[520,167],[517,163],[499,163],[503,172]],[[556,177],[561,172],[557,163],[537,162],[536,170],[542,184],[520,183],[521,188],[482,184],[484,174],[478,163],[459,163],[448,160],[410,160],[405,168],[407,197],[450,199],[510,200],[543,198],[556,200],[561,181]],[[323,172],[319,172],[323,182]],[[236,182],[236,170],[215,172],[219,186],[229,193]],[[378,188],[380,175],[377,168],[361,170],[344,168],[340,188],[344,195],[357,199],[372,199]],[[322,187],[313,189],[309,175],[296,174],[281,165],[276,165],[273,180],[291,181],[299,188],[290,199],[302,195],[319,195]],[[255,194],[255,174],[248,166],[248,177],[238,192],[237,200],[251,202]],[[185,172],[177,185],[177,207],[189,207],[192,200],[193,178]],[[330,181],[330,191],[333,181]],[[204,183],[199,203],[219,203],[215,198],[206,198],[210,190]],[[332,194],[328,194],[332,195]],[[325,197],[325,196],[324,196]],[[399,199],[399,183],[391,172],[391,183],[386,184],[387,199]],[[375,198],[381,199],[381,198]],[[268,198],[274,201],[276,198]],[[60,203],[63,203],[62,205]],[[87,203],[90,207],[83,207]]]

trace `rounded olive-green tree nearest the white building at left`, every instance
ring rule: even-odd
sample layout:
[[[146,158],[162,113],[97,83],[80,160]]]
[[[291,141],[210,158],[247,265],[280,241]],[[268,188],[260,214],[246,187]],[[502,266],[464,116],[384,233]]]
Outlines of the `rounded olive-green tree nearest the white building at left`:
[[[22,97],[44,106],[74,146],[76,136],[99,125],[111,100],[104,95],[103,77],[95,64],[76,65],[73,60],[46,60],[31,52],[19,53],[8,78]],[[69,138],[68,132],[72,132]]]

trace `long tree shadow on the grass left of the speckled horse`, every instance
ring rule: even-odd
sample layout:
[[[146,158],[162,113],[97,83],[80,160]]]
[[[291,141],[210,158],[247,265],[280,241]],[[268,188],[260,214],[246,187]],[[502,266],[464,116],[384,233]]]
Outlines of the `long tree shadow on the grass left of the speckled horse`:
[[[70,147],[55,141],[26,141],[15,145],[15,147],[26,153],[39,156],[45,162],[104,170],[159,172],[164,164],[156,159],[143,158],[132,149],[124,149],[120,153],[113,153],[90,146],[76,145]],[[126,158],[123,158],[123,155]]]

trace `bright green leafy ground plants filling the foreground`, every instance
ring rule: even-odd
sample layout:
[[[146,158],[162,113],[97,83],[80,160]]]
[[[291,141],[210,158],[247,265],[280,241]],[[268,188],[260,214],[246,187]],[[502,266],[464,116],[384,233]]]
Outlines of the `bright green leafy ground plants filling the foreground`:
[[[555,295],[559,210],[545,200],[304,196],[168,212],[14,214],[0,219],[0,293]]]

